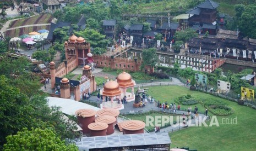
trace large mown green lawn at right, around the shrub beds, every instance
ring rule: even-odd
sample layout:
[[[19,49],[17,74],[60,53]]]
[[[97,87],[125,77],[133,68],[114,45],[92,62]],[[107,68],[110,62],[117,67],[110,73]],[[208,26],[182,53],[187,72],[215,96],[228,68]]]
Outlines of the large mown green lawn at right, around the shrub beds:
[[[171,147],[189,147],[197,150],[255,150],[256,148],[256,110],[239,106],[235,102],[224,100],[213,95],[198,91],[190,91],[182,86],[153,86],[149,88],[149,94],[161,102],[173,102],[173,99],[181,95],[190,94],[198,99],[219,99],[224,101],[235,111],[226,117],[217,116],[219,126],[212,127],[189,127],[181,131],[170,133]],[[199,111],[204,111],[203,106],[197,104]],[[187,106],[182,106],[186,107]],[[193,108],[193,107],[192,107]],[[213,114],[209,113],[211,116]],[[236,118],[236,124],[230,124]],[[213,118],[212,118],[213,119]],[[222,122],[223,120],[223,122]],[[226,121],[228,120],[228,123]],[[210,124],[210,121],[207,122]]]

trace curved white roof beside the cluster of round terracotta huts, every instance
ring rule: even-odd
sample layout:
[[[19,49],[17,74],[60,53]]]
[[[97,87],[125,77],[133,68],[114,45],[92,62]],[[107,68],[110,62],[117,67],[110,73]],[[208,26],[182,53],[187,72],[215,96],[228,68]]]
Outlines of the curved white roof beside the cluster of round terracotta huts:
[[[75,115],[75,111],[78,109],[94,109],[95,111],[99,111],[100,108],[91,106],[86,103],[81,103],[78,101],[74,101],[68,98],[59,98],[59,97],[47,97],[48,98],[48,106],[57,106],[61,107],[61,112],[68,115]]]

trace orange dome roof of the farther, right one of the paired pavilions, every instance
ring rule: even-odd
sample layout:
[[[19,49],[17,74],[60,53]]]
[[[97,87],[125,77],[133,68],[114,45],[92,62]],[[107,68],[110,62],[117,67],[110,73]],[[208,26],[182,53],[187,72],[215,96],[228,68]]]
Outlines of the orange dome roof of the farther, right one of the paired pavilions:
[[[120,88],[129,88],[130,86],[134,86],[132,76],[126,72],[118,75],[117,83],[119,84]]]

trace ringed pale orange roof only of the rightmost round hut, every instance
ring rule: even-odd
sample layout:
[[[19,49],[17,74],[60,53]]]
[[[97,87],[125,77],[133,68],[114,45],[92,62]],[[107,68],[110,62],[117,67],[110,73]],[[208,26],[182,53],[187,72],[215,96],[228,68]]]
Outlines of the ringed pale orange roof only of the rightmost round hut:
[[[129,131],[141,130],[141,129],[144,129],[145,126],[146,124],[140,120],[127,120],[121,124],[121,127],[123,129],[129,130]]]

